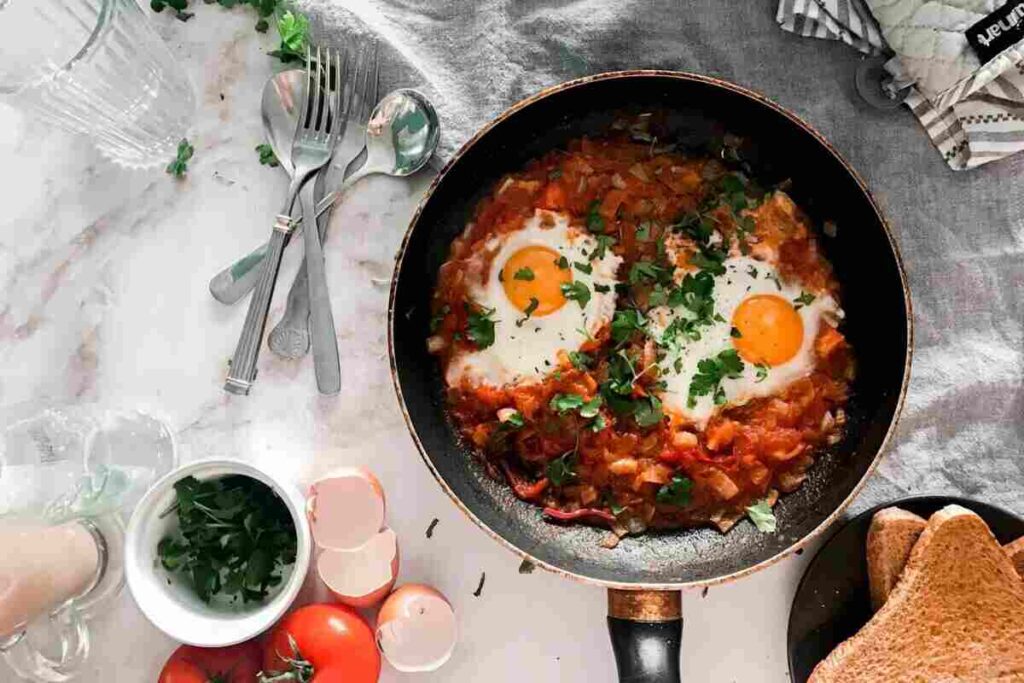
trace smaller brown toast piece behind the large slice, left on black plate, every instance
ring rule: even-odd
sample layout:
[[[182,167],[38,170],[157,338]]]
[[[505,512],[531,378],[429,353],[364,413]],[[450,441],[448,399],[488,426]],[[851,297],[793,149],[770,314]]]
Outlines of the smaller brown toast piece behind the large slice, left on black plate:
[[[924,517],[902,508],[886,508],[871,517],[867,528],[867,584],[874,610],[889,599],[926,524]]]

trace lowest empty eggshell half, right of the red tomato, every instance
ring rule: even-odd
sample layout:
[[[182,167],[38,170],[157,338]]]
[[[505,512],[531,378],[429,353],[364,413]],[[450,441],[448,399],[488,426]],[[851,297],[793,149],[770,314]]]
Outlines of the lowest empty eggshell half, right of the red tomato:
[[[457,637],[452,604],[422,584],[400,587],[377,616],[377,646],[400,672],[436,671],[451,658]]]

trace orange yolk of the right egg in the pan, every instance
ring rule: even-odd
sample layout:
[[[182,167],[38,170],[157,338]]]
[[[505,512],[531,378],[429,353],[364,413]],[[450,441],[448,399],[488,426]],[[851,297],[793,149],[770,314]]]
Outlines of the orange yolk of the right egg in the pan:
[[[732,340],[748,362],[780,366],[804,342],[804,322],[788,301],[772,294],[743,299],[732,314],[739,336]]]

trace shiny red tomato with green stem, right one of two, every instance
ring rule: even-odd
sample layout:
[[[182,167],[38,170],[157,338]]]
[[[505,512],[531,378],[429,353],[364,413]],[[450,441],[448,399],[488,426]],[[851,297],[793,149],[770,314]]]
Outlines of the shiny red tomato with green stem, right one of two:
[[[293,640],[298,652],[292,651]],[[313,670],[310,683],[376,683],[381,655],[373,631],[355,610],[306,605],[273,630],[263,649],[263,671],[284,673],[305,666]]]

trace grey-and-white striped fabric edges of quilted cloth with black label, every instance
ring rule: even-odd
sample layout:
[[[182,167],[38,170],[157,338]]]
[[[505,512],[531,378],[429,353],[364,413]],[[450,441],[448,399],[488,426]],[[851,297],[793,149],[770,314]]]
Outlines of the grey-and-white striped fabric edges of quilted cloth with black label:
[[[892,54],[863,0],[780,0],[776,19],[800,36],[842,40],[868,55]],[[948,106],[937,108],[912,85],[898,56],[885,69],[949,167],[976,168],[1024,150],[1024,62]]]

